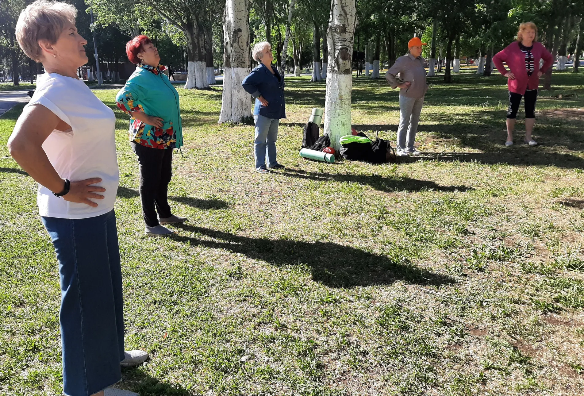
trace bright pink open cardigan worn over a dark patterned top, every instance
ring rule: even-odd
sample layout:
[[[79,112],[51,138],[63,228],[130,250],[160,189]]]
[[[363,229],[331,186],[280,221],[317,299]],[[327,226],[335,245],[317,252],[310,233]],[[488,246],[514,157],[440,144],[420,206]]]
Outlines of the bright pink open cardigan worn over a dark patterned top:
[[[493,57],[493,62],[500,74],[505,75],[509,72],[509,70],[503,66],[503,62],[505,62],[510,71],[515,75],[514,80],[507,80],[507,88],[509,88],[510,92],[523,95],[528,87],[529,89],[539,88],[540,78],[537,77],[537,73],[540,71],[541,59],[544,60],[541,72],[545,73],[545,71],[551,67],[553,59],[550,51],[545,49],[545,47],[538,41],[533,43],[531,54],[533,54],[534,57],[535,70],[530,76],[527,75],[527,69],[525,67],[525,54],[519,48],[519,43],[517,41],[509,44],[504,50],[499,51]]]

